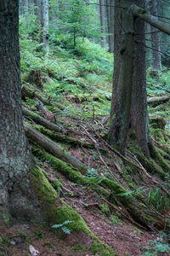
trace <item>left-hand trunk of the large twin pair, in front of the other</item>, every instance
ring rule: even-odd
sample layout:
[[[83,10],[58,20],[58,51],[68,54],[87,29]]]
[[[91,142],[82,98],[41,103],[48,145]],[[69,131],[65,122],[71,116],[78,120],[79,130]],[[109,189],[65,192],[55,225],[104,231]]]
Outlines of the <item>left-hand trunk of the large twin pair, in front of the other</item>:
[[[115,117],[111,119],[109,137],[110,142],[116,143],[124,154],[130,122],[133,84],[134,20],[133,15],[129,15],[129,3],[123,0],[122,6],[125,8],[122,9],[122,44],[121,49],[119,49],[121,66],[116,85]]]

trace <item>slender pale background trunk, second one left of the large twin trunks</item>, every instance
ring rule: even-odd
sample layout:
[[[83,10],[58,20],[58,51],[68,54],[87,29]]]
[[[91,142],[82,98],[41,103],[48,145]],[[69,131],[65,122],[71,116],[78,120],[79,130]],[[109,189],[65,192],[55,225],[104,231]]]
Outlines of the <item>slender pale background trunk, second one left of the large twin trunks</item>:
[[[99,19],[101,26],[101,46],[105,47],[105,1],[99,0]]]

